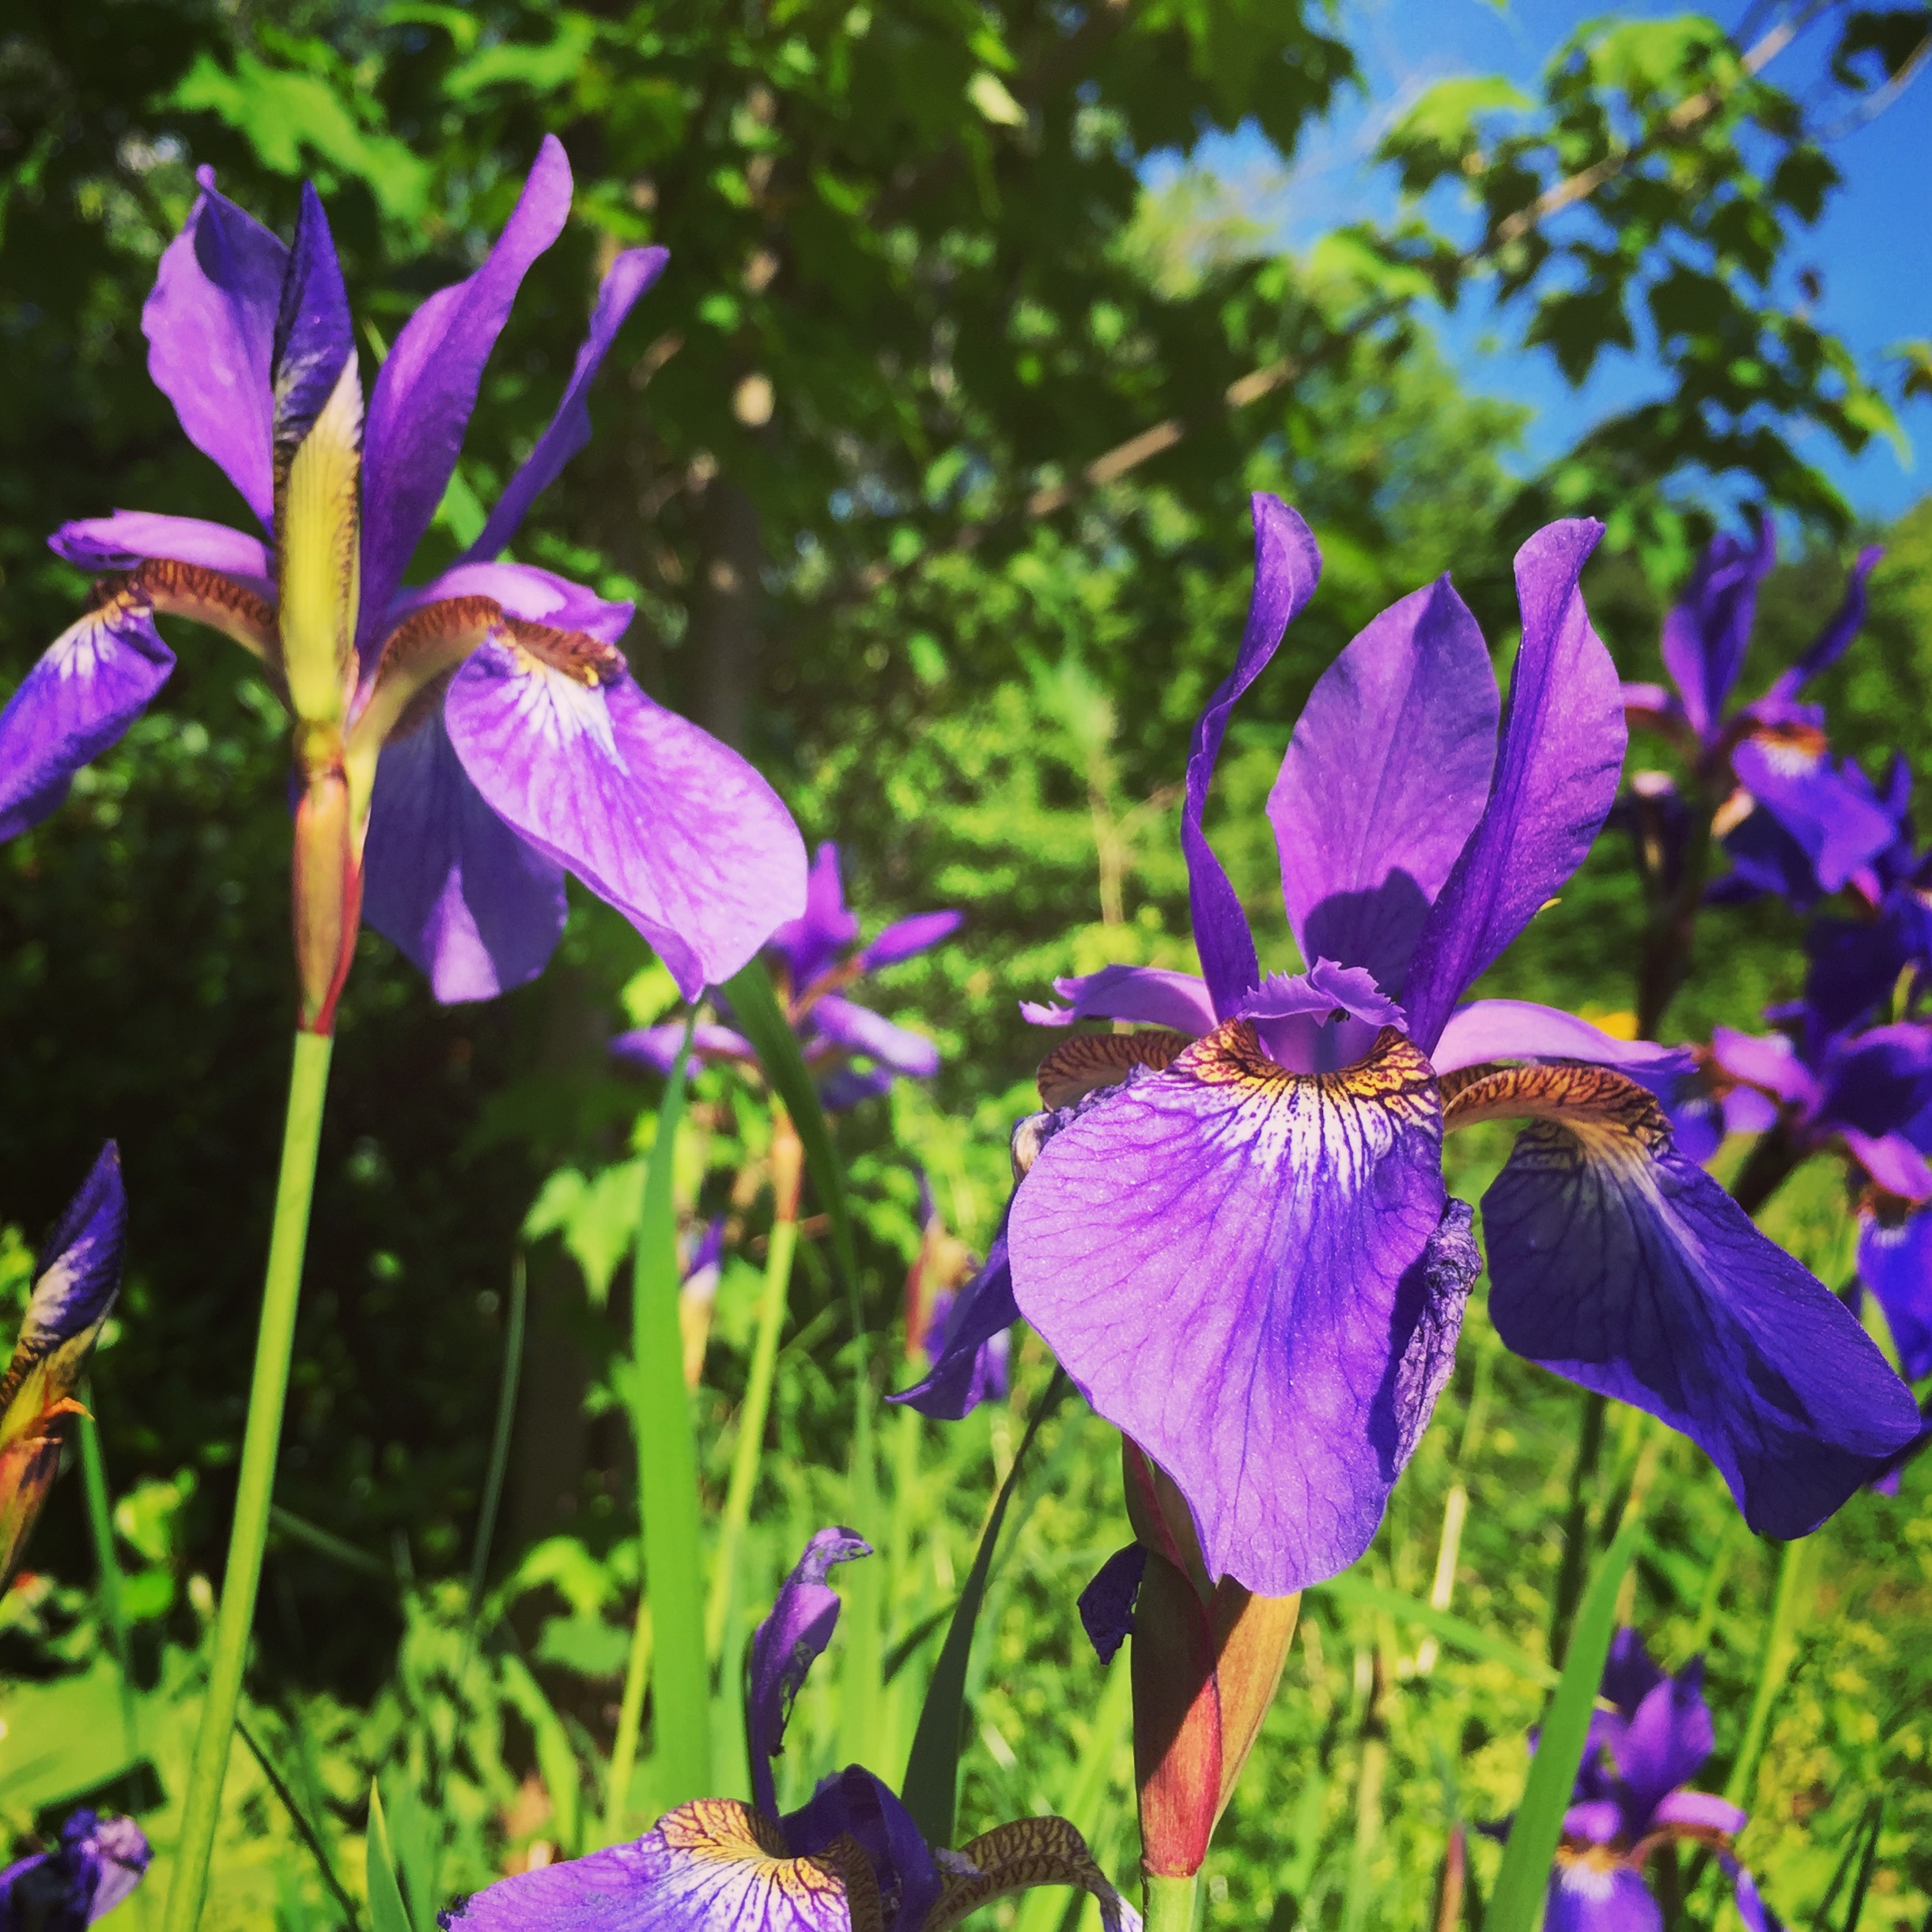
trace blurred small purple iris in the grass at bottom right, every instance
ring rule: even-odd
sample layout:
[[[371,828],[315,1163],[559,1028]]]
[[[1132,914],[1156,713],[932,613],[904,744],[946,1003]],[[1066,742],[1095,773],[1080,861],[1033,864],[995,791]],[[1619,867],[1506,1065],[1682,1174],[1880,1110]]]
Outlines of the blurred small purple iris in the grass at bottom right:
[[[1708,1791],[1685,1789],[1712,1752],[1704,1660],[1675,1677],[1650,1662],[1634,1631],[1619,1631],[1604,1665],[1604,1700],[1577,1772],[1563,1841],[1549,1872],[1548,1932],[1663,1932],[1644,1864],[1663,1845],[1708,1845],[1750,1932],[1777,1920],[1731,1853],[1745,1814]]]

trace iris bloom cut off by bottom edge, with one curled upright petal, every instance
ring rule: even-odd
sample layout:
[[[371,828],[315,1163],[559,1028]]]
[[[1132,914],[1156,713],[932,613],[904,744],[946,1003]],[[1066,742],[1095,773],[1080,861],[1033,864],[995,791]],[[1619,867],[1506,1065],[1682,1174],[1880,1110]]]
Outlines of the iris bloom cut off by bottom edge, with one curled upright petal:
[[[1080,1886],[1107,1932],[1140,1917],[1063,1818],[1020,1818],[960,1851],[927,1845],[906,1808],[852,1764],[779,1814],[773,1760],[792,1700],[831,1642],[835,1563],[871,1555],[850,1530],[819,1530],[752,1638],[746,1723],[752,1804],[697,1799],[630,1845],[504,1878],[442,1913],[446,1932],[949,1932],[991,1899]]]

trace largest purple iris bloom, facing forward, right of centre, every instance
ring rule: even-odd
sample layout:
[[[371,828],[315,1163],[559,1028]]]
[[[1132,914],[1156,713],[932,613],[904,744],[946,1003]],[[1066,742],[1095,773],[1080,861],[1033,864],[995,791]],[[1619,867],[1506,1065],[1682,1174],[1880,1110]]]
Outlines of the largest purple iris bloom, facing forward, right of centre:
[[[989,1275],[1005,1265],[1010,1304],[1175,1480],[1209,1575],[1287,1596],[1368,1548],[1449,1374],[1480,1256],[1443,1130],[1526,1117],[1484,1198],[1503,1341],[1690,1435],[1754,1528],[1812,1528],[1915,1410],[1837,1298],[1673,1146],[1631,1072],[1685,1057],[1522,1001],[1457,1005],[1615,796],[1623,697],[1578,591],[1600,526],[1517,554],[1505,707],[1447,578],[1323,672],[1267,806],[1310,966],[1264,978],[1202,813],[1320,553],[1273,497],[1254,518],[1246,634],[1188,757],[1204,978],[1113,966],[1030,1014],[1159,1032],[1047,1057],[1053,1111],[1022,1126]],[[993,1316],[962,1314],[962,1337]]]

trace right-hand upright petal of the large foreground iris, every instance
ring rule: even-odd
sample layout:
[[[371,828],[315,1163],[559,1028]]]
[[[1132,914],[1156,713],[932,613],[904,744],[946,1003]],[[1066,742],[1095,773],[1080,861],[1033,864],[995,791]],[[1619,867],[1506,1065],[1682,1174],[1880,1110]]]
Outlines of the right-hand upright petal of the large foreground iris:
[[[1435,1051],[1463,989],[1582,864],[1623,767],[1623,690],[1578,578],[1602,524],[1549,524],[1517,551],[1522,649],[1482,821],[1422,925],[1403,991],[1410,1037]]]

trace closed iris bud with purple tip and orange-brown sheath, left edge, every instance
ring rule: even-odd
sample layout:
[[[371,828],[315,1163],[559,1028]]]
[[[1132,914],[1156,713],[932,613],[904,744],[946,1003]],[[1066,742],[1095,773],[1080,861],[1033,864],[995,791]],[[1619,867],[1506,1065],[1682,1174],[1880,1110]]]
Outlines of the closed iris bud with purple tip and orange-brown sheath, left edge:
[[[19,1567],[60,1474],[60,1418],[81,1412],[75,1389],[120,1294],[126,1240],[128,1194],[110,1140],[46,1238],[14,1358],[0,1378],[0,1588]]]

